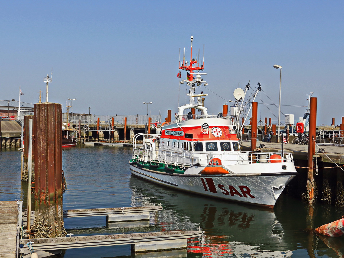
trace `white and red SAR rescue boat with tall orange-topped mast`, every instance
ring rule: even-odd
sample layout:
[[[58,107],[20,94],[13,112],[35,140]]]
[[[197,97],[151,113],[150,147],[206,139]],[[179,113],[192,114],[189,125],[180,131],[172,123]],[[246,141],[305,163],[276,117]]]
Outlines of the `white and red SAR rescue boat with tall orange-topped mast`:
[[[196,93],[207,83],[200,72],[204,62],[196,66],[192,58],[192,42],[193,37],[189,65],[184,58],[179,67],[187,72],[180,83],[189,86],[190,103],[180,106],[175,120],[162,123],[158,133],[135,135],[131,173],[182,191],[273,207],[297,175],[292,153],[241,151],[235,119],[208,114],[202,101],[208,94]]]

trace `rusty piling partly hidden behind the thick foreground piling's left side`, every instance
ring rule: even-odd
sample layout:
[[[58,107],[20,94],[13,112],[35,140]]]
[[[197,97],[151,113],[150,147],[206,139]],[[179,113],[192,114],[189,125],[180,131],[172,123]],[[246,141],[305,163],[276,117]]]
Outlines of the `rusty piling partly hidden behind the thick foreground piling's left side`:
[[[28,180],[28,170],[29,170],[29,121],[30,119],[34,119],[33,115],[26,115],[24,116],[24,157],[23,157],[23,173],[21,176],[21,180]],[[33,126],[32,126],[32,134],[33,136],[35,135],[35,122],[33,121]],[[34,159],[34,150],[32,149],[32,171],[35,171],[35,159]],[[34,176],[32,177],[32,180],[34,181]]]

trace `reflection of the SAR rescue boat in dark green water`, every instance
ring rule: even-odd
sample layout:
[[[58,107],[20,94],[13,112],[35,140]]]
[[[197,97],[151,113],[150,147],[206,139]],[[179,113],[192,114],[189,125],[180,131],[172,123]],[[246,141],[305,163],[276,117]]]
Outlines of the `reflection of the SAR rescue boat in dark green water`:
[[[131,177],[131,206],[157,205],[163,210],[150,223],[163,230],[203,228],[203,237],[191,239],[187,252],[211,257],[289,257],[292,251],[284,229],[271,209],[243,206],[211,198],[161,189]],[[225,255],[224,255],[225,254]]]

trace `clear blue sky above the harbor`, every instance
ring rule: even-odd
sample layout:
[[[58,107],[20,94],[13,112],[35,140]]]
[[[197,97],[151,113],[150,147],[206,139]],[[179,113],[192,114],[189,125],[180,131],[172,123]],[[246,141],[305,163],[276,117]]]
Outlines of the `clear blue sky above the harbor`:
[[[259,103],[278,106],[278,64],[283,114],[303,116],[314,92],[317,124],[331,125],[332,117],[339,124],[343,11],[343,1],[7,1],[0,9],[0,99],[18,100],[20,85],[21,101],[37,103],[53,67],[50,102],[65,107],[77,98],[74,112],[91,107],[96,115],[145,115],[142,102],[153,102],[150,112],[166,117],[177,111],[180,86],[185,103],[179,49],[189,61],[193,35],[193,53],[200,49],[202,58],[205,45],[209,113],[222,111],[249,80],[252,89],[261,83]],[[258,105],[259,119],[277,120],[278,108],[268,107],[272,113]]]

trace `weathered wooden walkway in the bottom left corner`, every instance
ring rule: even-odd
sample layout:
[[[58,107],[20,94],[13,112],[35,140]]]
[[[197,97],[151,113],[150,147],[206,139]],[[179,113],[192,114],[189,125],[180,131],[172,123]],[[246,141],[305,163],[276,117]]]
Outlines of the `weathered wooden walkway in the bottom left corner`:
[[[19,240],[19,225],[21,221],[21,202],[7,201],[0,202],[0,257],[19,257],[17,243]]]

